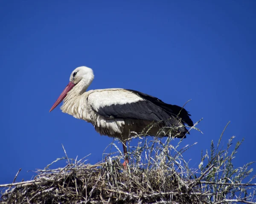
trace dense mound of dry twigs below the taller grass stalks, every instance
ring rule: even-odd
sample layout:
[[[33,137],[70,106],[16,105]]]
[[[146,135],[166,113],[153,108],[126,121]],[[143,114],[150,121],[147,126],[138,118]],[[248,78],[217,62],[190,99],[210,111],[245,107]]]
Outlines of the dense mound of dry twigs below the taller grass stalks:
[[[2,203],[203,203],[205,196],[175,171],[122,170],[118,160],[38,170],[2,195]]]

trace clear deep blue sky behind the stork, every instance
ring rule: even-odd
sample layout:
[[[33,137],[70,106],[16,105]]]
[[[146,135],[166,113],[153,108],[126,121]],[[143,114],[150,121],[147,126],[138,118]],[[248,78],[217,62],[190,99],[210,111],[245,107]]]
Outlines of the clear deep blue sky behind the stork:
[[[186,109],[204,118],[204,135],[184,141],[198,142],[191,167],[228,121],[222,144],[245,138],[235,166],[255,161],[255,8],[253,0],[1,1],[0,184],[19,168],[17,181],[30,179],[28,170],[64,156],[61,144],[70,158],[101,161],[111,138],[59,106],[49,113],[77,66],[94,70],[90,89],[135,89],[180,106],[192,99]]]

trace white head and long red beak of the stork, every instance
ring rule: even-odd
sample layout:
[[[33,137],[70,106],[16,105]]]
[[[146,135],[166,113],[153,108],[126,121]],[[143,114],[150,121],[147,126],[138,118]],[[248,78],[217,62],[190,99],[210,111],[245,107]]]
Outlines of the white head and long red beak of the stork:
[[[83,79],[84,80],[84,86],[87,88],[90,83],[92,82],[94,78],[93,70],[86,66],[79,66],[77,67],[70,75],[70,82],[67,84],[64,91],[61,93],[57,101],[53,104],[52,108],[49,112],[51,112],[53,109],[55,109],[58,104],[63,101],[63,99],[66,97],[67,93],[70,92],[71,89],[73,89],[74,86],[79,84],[79,82]],[[81,87],[83,89],[84,87]]]

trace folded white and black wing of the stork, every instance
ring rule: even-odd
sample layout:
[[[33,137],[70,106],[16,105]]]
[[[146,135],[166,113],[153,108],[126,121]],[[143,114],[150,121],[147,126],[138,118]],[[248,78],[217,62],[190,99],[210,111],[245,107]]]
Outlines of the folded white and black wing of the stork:
[[[163,123],[163,126],[193,126],[189,113],[180,106],[164,103],[158,98],[129,89],[102,89],[90,93],[87,101],[104,118],[129,118]],[[184,135],[187,129],[178,130]]]

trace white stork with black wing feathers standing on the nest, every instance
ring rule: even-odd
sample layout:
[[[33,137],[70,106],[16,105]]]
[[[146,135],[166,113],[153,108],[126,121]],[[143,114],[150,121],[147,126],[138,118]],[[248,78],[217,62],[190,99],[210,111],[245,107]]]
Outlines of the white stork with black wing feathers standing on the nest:
[[[122,141],[125,161],[129,162],[126,141],[150,126],[146,135],[186,138],[193,126],[189,112],[183,107],[131,89],[96,89],[87,91],[94,79],[93,70],[80,66],[73,70],[70,81],[58,97],[51,112],[61,101],[61,110],[93,124],[100,135]],[[159,130],[162,131],[159,133]]]

